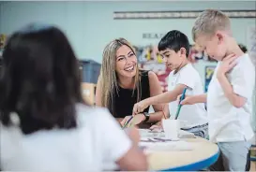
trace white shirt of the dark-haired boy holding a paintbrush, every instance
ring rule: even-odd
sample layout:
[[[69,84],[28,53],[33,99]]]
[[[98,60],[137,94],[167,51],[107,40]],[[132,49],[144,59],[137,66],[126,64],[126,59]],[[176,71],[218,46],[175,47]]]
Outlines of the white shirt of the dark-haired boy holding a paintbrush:
[[[186,94],[197,95],[203,93],[203,85],[197,70],[191,65],[185,65],[176,74],[172,71],[168,79],[168,91],[172,92],[178,84],[184,84],[188,86]],[[169,103],[169,110],[171,113],[171,119],[175,118],[175,114],[178,108],[178,101]],[[204,108],[204,104],[186,105],[180,110],[178,116],[180,121],[183,121],[184,128],[189,128],[197,125],[207,123],[207,113]]]

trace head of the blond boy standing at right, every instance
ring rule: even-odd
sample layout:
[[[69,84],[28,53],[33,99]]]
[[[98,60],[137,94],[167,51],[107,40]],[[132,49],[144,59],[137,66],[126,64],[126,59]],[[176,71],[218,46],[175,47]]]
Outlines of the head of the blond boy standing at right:
[[[211,58],[221,61],[227,55],[232,36],[230,19],[219,10],[204,10],[194,23],[192,36]]]

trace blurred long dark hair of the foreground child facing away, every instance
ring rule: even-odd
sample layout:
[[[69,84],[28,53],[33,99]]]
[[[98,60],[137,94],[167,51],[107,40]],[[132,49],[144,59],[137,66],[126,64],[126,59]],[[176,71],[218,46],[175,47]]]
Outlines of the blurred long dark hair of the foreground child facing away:
[[[68,38],[53,26],[30,24],[9,37],[0,77],[0,122],[16,112],[23,134],[77,126],[83,103],[78,60]]]

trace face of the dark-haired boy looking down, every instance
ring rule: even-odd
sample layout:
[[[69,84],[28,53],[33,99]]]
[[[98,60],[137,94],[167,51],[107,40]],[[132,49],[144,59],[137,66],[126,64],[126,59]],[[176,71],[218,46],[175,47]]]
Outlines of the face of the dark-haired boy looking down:
[[[183,49],[183,48],[182,48]],[[186,52],[185,52],[186,53]],[[175,52],[171,49],[160,50],[160,55],[162,56],[163,62],[171,70],[177,69],[184,61],[181,50]],[[186,55],[185,55],[186,57]]]

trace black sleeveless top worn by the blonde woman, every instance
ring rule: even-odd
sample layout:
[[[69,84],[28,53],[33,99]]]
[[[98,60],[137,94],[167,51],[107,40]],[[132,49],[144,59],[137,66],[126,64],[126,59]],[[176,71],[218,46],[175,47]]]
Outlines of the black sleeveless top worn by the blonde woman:
[[[150,97],[148,71],[140,71],[141,73],[141,100]],[[137,90],[124,89],[118,87],[118,93],[114,93],[113,110],[110,110],[114,118],[125,118],[132,115],[134,104],[137,103]],[[133,94],[132,94],[133,93]],[[145,108],[143,112],[148,112],[149,108]]]

